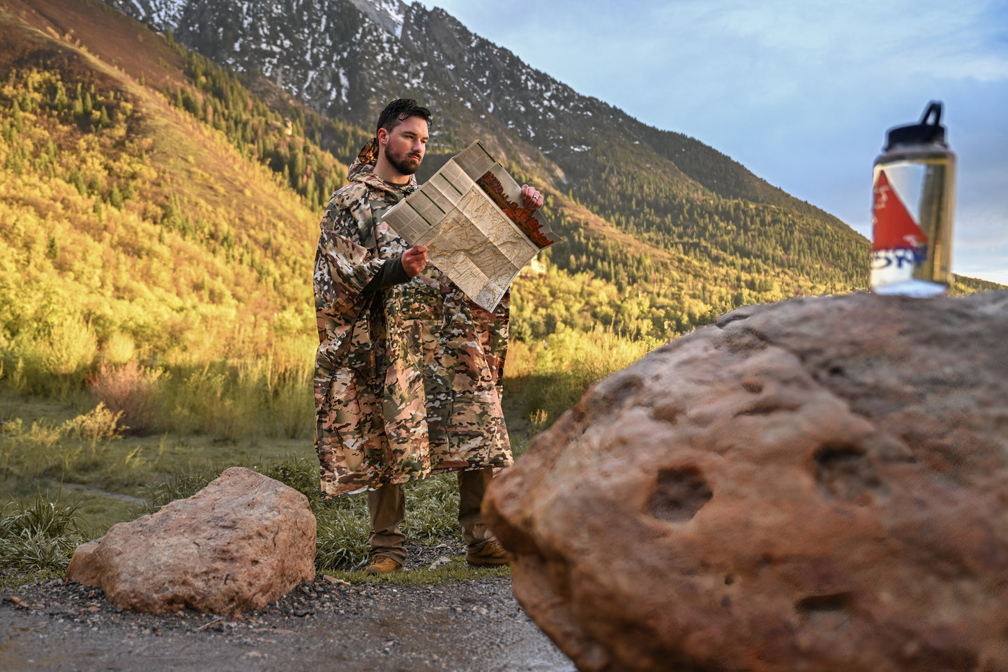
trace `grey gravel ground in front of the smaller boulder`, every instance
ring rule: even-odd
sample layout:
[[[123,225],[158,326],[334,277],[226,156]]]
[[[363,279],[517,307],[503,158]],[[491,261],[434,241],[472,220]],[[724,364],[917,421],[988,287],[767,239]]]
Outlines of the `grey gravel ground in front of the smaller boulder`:
[[[406,567],[455,550],[411,549]],[[237,618],[117,609],[102,590],[61,580],[11,588],[0,599],[0,669],[576,670],[508,578],[396,586],[322,574]]]

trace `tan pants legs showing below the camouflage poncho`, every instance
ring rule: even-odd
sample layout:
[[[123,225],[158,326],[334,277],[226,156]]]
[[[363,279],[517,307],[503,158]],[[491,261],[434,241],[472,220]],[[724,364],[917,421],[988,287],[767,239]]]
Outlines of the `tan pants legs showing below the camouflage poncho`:
[[[493,469],[460,471],[459,473],[459,523],[469,551],[479,551],[496,539],[483,522],[480,506],[483,494],[494,478]],[[399,525],[406,515],[406,496],[402,485],[391,483],[377,490],[368,490],[368,512],[371,514],[371,555],[383,555],[398,563],[406,560],[402,543],[405,536]]]

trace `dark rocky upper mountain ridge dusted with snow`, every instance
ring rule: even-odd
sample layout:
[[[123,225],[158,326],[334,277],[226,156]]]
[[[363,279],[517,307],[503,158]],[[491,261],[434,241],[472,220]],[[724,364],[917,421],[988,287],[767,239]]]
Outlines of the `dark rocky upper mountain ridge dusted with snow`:
[[[660,157],[675,177],[720,196],[801,206],[698,140],[579,95],[439,8],[399,0],[107,1],[324,116],[370,128],[387,99],[414,95],[435,112],[435,146],[464,146],[466,132],[498,140],[505,153],[541,151],[560,169],[559,184],[608,142],[642,143],[645,161]]]

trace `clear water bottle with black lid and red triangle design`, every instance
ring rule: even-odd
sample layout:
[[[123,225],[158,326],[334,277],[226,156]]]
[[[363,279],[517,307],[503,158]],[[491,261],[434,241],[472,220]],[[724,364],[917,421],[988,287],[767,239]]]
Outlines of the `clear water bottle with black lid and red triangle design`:
[[[933,297],[952,283],[956,154],[946,144],[941,103],[915,124],[886,132],[875,159],[871,288]]]

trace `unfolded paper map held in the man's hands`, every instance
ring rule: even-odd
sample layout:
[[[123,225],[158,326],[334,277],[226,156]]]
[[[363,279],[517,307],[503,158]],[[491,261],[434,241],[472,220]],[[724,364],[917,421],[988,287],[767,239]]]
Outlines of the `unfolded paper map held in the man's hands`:
[[[480,307],[492,311],[540,249],[559,240],[479,141],[453,156],[382,220]]]

